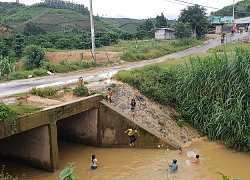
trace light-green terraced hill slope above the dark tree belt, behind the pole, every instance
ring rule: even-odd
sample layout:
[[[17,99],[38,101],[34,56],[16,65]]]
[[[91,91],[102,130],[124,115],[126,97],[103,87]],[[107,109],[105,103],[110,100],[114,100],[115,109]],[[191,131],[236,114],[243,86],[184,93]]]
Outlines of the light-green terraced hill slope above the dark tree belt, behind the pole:
[[[2,26],[25,34],[31,29],[43,33],[89,32],[89,11],[84,5],[65,1],[49,1],[25,6],[18,3],[0,3],[0,22]],[[99,17],[94,17],[95,31],[124,32]]]

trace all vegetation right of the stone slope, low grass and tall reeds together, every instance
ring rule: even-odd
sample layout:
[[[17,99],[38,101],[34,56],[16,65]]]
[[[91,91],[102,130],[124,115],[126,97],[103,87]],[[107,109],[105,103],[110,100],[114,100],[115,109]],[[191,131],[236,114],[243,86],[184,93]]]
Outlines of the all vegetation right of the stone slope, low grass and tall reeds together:
[[[237,47],[231,53],[192,57],[182,64],[166,61],[121,71],[115,78],[140,88],[162,105],[176,108],[210,140],[250,152],[249,58],[246,49]]]

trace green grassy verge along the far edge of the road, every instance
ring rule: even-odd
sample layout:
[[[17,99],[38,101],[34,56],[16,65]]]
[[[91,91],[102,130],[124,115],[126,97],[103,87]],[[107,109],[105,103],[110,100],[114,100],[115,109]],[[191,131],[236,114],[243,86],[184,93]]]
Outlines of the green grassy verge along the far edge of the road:
[[[158,58],[164,56],[166,54],[170,54],[173,52],[181,51],[187,49],[189,47],[193,47],[199,44],[202,44],[205,39],[202,40],[142,40],[139,41],[138,46],[135,46],[134,41],[119,41],[118,44],[114,44],[113,46],[103,46],[101,48],[97,48],[97,52],[106,51],[106,52],[123,52],[121,59],[125,61],[141,61],[152,58]],[[107,66],[112,64],[112,61],[108,62],[83,62],[82,60],[76,60],[73,62],[67,62],[66,60],[62,60],[59,63],[51,63],[45,62],[41,68],[33,69],[33,70],[25,70],[22,68],[17,68],[15,60],[11,63],[11,60],[6,61],[6,65],[8,65],[10,70],[6,70],[5,64],[0,64],[0,75],[3,76],[4,73],[8,73],[8,78],[0,77],[0,80],[15,80],[15,79],[26,79],[29,75],[32,77],[46,76],[47,71],[52,73],[68,73],[77,70],[83,70],[91,67],[100,67]],[[3,67],[2,67],[3,66]],[[1,69],[2,68],[2,69]],[[2,70],[2,72],[1,72]]]

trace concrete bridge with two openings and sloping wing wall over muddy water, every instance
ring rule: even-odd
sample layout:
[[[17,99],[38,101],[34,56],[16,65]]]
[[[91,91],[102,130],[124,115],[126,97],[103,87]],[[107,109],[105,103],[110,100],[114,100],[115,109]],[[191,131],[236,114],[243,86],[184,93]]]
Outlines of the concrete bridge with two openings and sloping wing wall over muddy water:
[[[178,145],[153,134],[154,129],[130,121],[130,117],[96,94],[53,106],[17,120],[16,130],[0,124],[0,155],[51,172],[59,168],[58,139],[96,147],[128,147],[124,131],[136,126],[136,148],[177,149]]]

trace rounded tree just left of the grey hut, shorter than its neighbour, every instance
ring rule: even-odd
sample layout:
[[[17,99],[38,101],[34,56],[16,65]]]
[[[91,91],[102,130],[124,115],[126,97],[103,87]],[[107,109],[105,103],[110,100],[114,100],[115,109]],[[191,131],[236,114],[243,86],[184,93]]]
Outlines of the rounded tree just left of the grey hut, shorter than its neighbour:
[[[154,25],[152,20],[147,19],[139,24],[136,37],[139,39],[154,37]]]

